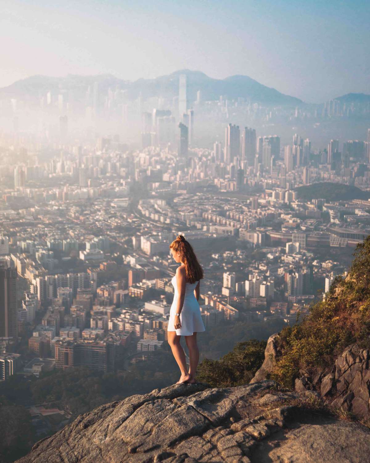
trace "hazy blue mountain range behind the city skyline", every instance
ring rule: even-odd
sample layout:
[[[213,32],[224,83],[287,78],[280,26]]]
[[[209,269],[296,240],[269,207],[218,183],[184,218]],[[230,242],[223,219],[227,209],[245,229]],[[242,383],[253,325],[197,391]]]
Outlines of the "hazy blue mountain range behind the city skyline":
[[[220,95],[228,99],[245,98],[253,103],[266,105],[300,106],[304,102],[290,95],[278,92],[275,88],[266,87],[246,75],[232,75],[226,79],[213,79],[200,71],[182,69],[172,74],[162,75],[155,79],[138,79],[126,81],[109,74],[102,75],[67,75],[65,77],[49,77],[33,75],[16,81],[11,85],[0,88],[1,98],[16,98],[30,100],[41,98],[47,92],[53,94],[70,93],[82,94],[86,88],[98,82],[99,92],[123,90],[128,100],[135,100],[140,95],[144,100],[151,97],[172,99],[179,94],[179,75],[187,77],[187,98],[194,101],[200,90],[202,100],[218,100]],[[347,94],[337,99],[342,101],[367,102],[370,95]]]

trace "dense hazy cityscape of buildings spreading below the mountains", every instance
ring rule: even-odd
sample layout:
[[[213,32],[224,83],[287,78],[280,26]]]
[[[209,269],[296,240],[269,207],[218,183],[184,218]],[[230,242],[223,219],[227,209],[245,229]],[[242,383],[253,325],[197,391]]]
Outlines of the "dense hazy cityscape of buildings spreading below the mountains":
[[[0,380],[72,367],[130,371],[168,353],[177,267],[169,244],[178,234],[203,265],[206,331],[218,328],[231,345],[308,314],[370,234],[370,129],[363,140],[329,133],[316,146],[265,125],[367,121],[369,99],[308,109],[203,100],[201,90],[189,93],[191,76],[175,73],[178,94],[167,99],[125,103],[124,92],[93,82],[84,104],[52,91],[36,103],[0,101],[12,120],[0,132]],[[20,108],[39,117],[38,134],[22,130]],[[83,114],[91,127],[78,138]],[[99,133],[110,118],[132,119],[140,133]],[[248,126],[234,123],[243,118]],[[234,338],[238,324],[252,334]],[[203,358],[226,351],[205,346]],[[73,415],[50,402],[25,404],[38,437]],[[48,420],[56,415],[59,425]]]

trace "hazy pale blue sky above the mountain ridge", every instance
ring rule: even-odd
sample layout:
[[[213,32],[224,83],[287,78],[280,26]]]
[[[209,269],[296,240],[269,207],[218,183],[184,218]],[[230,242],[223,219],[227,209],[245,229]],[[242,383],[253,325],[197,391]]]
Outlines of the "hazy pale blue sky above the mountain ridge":
[[[243,74],[321,102],[370,93],[370,2],[2,0],[0,87],[34,74]]]

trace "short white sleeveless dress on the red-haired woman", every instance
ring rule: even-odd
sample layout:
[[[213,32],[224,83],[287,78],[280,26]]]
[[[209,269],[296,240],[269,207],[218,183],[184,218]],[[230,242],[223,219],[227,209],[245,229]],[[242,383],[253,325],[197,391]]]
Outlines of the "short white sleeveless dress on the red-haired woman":
[[[205,331],[202,315],[200,313],[199,303],[194,294],[198,282],[186,283],[185,285],[185,298],[180,316],[177,317],[176,306],[179,293],[177,291],[176,275],[171,280],[175,294],[173,296],[173,303],[170,309],[170,319],[168,320],[167,331],[176,331],[178,336],[191,336],[194,332]],[[180,319],[181,328],[175,330],[175,319]]]

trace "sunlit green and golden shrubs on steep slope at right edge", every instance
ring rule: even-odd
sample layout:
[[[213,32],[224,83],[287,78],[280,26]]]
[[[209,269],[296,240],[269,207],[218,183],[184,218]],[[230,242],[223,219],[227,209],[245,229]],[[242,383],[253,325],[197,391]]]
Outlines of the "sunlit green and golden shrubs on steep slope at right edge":
[[[326,367],[350,344],[369,347],[370,336],[370,236],[358,244],[348,276],[337,277],[326,300],[310,314],[279,333],[272,377],[292,387],[300,369]]]

